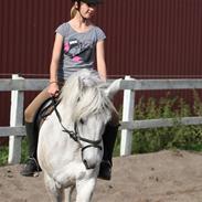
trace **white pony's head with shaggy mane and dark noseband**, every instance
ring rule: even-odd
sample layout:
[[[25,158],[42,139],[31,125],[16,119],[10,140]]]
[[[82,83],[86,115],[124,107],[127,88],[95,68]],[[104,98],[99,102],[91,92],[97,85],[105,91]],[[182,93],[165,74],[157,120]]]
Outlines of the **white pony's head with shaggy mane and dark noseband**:
[[[95,168],[102,160],[102,135],[111,111],[116,110],[99,87],[100,83],[94,72],[83,70],[67,79],[61,94],[61,104],[74,123],[87,169]]]

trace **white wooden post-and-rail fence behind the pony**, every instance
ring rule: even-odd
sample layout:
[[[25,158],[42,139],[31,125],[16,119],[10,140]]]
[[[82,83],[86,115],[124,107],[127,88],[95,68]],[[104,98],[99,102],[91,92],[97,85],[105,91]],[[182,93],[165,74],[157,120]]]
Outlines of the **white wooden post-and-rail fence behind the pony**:
[[[9,163],[20,162],[21,139],[25,136],[23,126],[23,103],[25,91],[41,91],[47,85],[47,79],[23,79],[13,75],[12,79],[0,79],[0,92],[11,93],[10,126],[0,127],[0,137],[9,136]],[[202,79],[134,79],[126,76],[120,84],[124,91],[123,120],[120,121],[121,142],[120,156],[130,155],[132,130],[140,128],[171,127],[172,118],[134,120],[135,92],[155,89],[202,89]],[[182,125],[201,125],[202,117],[183,117]]]

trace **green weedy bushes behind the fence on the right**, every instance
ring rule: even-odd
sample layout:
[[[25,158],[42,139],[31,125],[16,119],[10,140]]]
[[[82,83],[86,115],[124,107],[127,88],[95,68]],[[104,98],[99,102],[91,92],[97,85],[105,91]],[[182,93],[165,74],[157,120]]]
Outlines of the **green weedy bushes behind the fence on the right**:
[[[132,153],[153,152],[162,149],[178,148],[202,150],[202,126],[182,126],[177,118],[202,116],[202,102],[193,91],[193,106],[180,97],[168,93],[160,99],[142,97],[135,108],[135,119],[176,118],[174,127],[137,129],[132,136]],[[117,139],[115,155],[119,155],[120,138]]]

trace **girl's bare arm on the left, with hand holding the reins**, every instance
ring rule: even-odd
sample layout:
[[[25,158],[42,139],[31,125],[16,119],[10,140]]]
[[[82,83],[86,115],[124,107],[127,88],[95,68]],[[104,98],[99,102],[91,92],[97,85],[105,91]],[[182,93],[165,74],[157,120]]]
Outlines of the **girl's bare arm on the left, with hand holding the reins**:
[[[47,89],[51,96],[56,96],[56,94],[59,94],[57,70],[61,59],[62,45],[63,45],[63,36],[56,33],[50,65],[50,86]]]

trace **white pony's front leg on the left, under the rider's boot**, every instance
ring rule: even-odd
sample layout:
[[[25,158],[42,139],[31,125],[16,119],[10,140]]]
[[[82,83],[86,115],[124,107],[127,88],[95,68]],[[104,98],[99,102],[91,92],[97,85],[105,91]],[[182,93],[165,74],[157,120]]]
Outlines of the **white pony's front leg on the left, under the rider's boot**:
[[[64,202],[64,190],[46,173],[44,173],[44,182],[49,195],[53,202]]]

